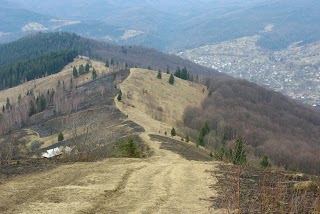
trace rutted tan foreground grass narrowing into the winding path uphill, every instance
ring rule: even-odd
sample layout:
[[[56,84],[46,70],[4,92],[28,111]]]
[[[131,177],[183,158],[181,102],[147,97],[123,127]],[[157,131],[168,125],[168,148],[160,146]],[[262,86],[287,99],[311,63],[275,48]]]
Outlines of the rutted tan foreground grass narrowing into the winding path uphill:
[[[131,113],[129,119],[146,129],[141,138],[153,156],[75,163],[12,178],[0,183],[0,213],[221,213],[209,209],[208,201],[216,179],[207,171],[217,163],[160,149],[149,134],[168,127]]]

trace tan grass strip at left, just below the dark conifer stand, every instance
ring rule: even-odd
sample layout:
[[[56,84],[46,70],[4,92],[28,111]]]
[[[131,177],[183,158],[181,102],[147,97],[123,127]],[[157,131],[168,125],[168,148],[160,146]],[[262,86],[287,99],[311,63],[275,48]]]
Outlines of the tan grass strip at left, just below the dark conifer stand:
[[[95,61],[95,60],[89,60],[86,57],[76,58],[73,62],[69,63],[64,67],[64,69],[56,74],[39,78],[36,80],[32,80],[29,82],[26,82],[24,84],[18,85],[14,88],[9,88],[3,91],[0,91],[0,106],[5,104],[7,97],[9,97],[10,101],[17,101],[17,98],[19,94],[22,96],[27,93],[28,90],[33,89],[33,92],[35,95],[38,95],[39,93],[44,93],[48,89],[55,89],[58,81],[60,80],[61,83],[64,81],[65,84],[69,85],[70,78],[72,77],[72,68],[73,66],[76,66],[79,68],[79,65],[83,64],[85,65],[87,62],[91,62],[92,66],[96,69],[98,75],[102,75],[104,73],[108,73],[109,69],[104,66],[104,63]],[[74,79],[73,82],[75,85],[81,85],[85,82],[88,82],[92,80],[91,72],[88,74],[84,74],[79,76],[78,78]]]

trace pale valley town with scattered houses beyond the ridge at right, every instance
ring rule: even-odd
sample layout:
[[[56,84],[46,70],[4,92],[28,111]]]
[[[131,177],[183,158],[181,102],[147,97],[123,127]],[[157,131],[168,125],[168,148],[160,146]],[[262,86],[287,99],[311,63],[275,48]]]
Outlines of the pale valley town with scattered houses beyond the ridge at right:
[[[319,43],[296,43],[283,50],[271,51],[256,44],[259,38],[243,37],[177,55],[320,107]]]

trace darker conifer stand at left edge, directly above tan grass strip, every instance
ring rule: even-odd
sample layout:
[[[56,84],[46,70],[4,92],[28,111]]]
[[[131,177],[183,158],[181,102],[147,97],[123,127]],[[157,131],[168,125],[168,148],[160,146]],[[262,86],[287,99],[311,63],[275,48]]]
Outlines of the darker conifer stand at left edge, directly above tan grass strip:
[[[14,87],[20,83],[58,73],[72,62],[77,51],[51,52],[28,60],[18,60],[0,66],[0,89]]]

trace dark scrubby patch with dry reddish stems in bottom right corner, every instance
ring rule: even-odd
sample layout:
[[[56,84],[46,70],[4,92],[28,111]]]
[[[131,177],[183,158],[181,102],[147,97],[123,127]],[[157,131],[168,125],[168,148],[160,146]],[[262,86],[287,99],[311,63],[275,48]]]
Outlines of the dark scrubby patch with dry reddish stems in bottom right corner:
[[[316,176],[227,164],[219,168],[220,197],[213,206],[225,208],[225,213],[319,213]]]

